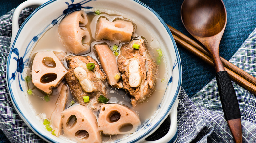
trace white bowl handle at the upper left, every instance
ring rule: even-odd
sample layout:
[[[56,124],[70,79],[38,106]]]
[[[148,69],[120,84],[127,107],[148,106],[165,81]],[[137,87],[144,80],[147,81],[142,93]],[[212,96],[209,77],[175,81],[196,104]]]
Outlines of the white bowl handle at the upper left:
[[[11,46],[13,44],[13,41],[18,33],[19,30],[19,16],[21,11],[24,8],[30,7],[30,8],[38,8],[42,4],[46,3],[49,0],[27,0],[23,3],[21,3],[17,8],[15,8],[12,16],[12,34],[11,34]]]

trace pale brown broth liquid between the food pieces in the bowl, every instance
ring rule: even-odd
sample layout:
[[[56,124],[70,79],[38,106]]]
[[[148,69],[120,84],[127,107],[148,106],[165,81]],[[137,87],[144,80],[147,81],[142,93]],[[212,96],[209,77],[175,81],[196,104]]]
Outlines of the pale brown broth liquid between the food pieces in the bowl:
[[[96,22],[97,19],[99,17],[108,17],[109,20],[113,20],[113,19],[124,19],[122,16],[119,15],[109,15],[107,13],[101,13],[100,15],[95,15],[95,14],[87,14],[88,16],[88,24],[85,26],[88,30],[90,30],[91,33],[91,50],[89,53],[84,54],[83,56],[86,55],[90,55],[92,56],[97,62],[98,62],[98,58],[93,50],[93,45],[96,43],[102,43],[102,42],[106,42],[110,47],[114,44],[120,46],[123,43],[119,43],[119,41],[114,40],[114,41],[109,41],[109,40],[96,40],[95,39],[95,34],[93,34],[93,31],[97,31],[96,30]],[[129,19],[124,19],[124,20],[128,20]],[[150,31],[141,23],[136,22],[133,23],[135,27],[137,27],[136,32],[133,33],[133,37],[138,37],[138,36],[142,36],[143,38],[145,38],[145,40],[149,40],[150,42],[153,40],[157,40],[156,38],[154,38],[154,36],[150,33]],[[157,52],[156,52],[156,48],[152,48],[150,46],[150,43],[147,43],[148,49],[149,49],[149,53],[151,55],[151,57],[156,58],[157,57]],[[58,27],[57,25],[53,26],[52,28],[50,28],[36,43],[32,53],[31,53],[31,59],[33,60],[33,56],[35,55],[35,53],[39,52],[39,51],[46,51],[46,50],[51,50],[51,51],[58,51],[58,52],[66,52],[67,55],[72,55],[72,53],[70,53],[69,51],[66,50],[65,48],[65,44],[63,43],[63,41],[61,40],[60,35],[58,34]],[[164,54],[164,53],[163,53]],[[164,56],[163,56],[164,57]],[[29,65],[29,70],[27,71],[27,75],[29,75],[31,77],[31,69],[32,69],[32,60],[30,61],[30,65]],[[67,68],[67,63],[65,61],[63,61],[64,65]],[[99,62],[98,62],[99,63]],[[163,95],[165,93],[165,89],[164,87],[167,86],[167,68],[166,68],[166,61],[163,58],[161,61],[161,64],[159,65],[158,68],[158,73],[156,75],[157,78],[157,84],[156,84],[156,89],[153,94],[150,97],[146,97],[145,98],[145,102],[144,103],[139,103],[136,107],[132,107],[132,105],[129,103],[130,102],[130,96],[129,94],[123,90],[123,89],[117,89],[114,87],[110,87],[107,85],[107,94],[108,97],[114,97],[115,99],[118,99],[118,101],[120,103],[125,104],[126,106],[130,107],[130,109],[132,109],[140,118],[141,123],[145,122],[147,119],[150,119],[155,111],[158,109],[159,104],[161,103],[162,99],[163,99]],[[63,84],[66,83],[65,79],[63,79],[62,83]],[[44,119],[50,119],[52,112],[54,111],[55,107],[56,107],[56,101],[60,92],[60,87],[56,87],[53,89],[53,92],[51,95],[49,95],[50,97],[50,101],[46,102],[44,99],[44,96],[46,96],[47,94],[45,94],[44,92],[38,90],[32,83],[32,80],[27,84],[28,89],[32,89],[33,94],[29,95],[29,103],[31,104],[32,107],[32,111],[35,113],[35,116],[37,119],[39,119],[41,122],[43,122]],[[159,87],[163,87],[163,88],[159,88]],[[71,105],[71,102],[75,101],[74,97],[72,96],[71,92],[69,91],[69,95],[68,95],[68,99],[67,99],[67,103],[66,103],[66,108],[69,107]],[[76,102],[76,101],[75,101]],[[95,112],[95,115],[97,117],[97,112]],[[127,136],[127,135],[101,135],[102,136],[102,141],[103,142],[109,142],[109,141],[113,141],[116,139],[120,139],[123,136]],[[61,133],[60,137],[65,138],[65,134]]]

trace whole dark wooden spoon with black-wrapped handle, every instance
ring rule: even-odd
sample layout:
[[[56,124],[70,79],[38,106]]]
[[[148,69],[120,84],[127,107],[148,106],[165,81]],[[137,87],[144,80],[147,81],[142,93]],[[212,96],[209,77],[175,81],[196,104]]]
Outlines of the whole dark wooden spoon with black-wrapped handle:
[[[222,0],[184,0],[181,20],[187,31],[210,52],[225,119],[235,142],[242,142],[241,114],[236,93],[219,55],[219,44],[227,24]]]

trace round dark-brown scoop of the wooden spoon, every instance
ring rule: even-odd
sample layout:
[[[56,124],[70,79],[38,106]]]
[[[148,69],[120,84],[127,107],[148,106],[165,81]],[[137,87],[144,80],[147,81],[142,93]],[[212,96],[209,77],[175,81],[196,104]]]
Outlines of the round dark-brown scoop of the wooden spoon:
[[[210,37],[226,27],[226,8],[222,1],[189,0],[182,4],[183,24],[191,35]]]

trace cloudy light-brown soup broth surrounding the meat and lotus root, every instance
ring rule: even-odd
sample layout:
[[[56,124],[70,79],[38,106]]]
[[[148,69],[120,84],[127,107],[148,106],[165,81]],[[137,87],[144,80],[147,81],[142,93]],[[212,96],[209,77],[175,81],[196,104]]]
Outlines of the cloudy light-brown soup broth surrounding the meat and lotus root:
[[[85,9],[83,9],[85,10]],[[87,13],[87,18],[88,18],[88,24],[85,26],[91,33],[91,40],[90,40],[90,50],[86,54],[81,54],[82,56],[92,56],[99,64],[98,57],[95,53],[95,49],[93,48],[95,44],[97,43],[107,43],[110,47],[110,49],[113,48],[113,45],[117,45],[118,49],[120,50],[120,47],[122,44],[125,42],[119,42],[118,40],[98,40],[95,38],[95,33],[97,33],[97,23],[98,19],[100,17],[105,17],[109,21],[113,21],[116,19],[119,20],[125,20],[125,21],[131,21],[129,19],[129,16],[121,16],[120,13],[113,14],[113,11],[108,13],[108,10],[105,9],[99,9],[101,13],[99,15],[95,14],[95,12],[92,11],[86,11]],[[144,23],[140,23],[138,20],[137,21],[132,21],[134,25],[134,32],[132,34],[132,40],[133,39],[138,39],[138,38],[143,38],[146,42],[146,45],[149,50],[149,54],[152,58],[155,59],[157,62],[158,59],[158,50],[161,49],[160,43],[158,42],[158,39],[155,38],[154,35],[151,34],[150,30],[146,28]],[[127,42],[126,42],[127,43]],[[65,48],[66,44],[63,41],[62,37],[60,36],[58,32],[58,24],[54,25],[52,28],[50,28],[43,36],[40,37],[38,42],[36,43],[34,49],[32,50],[31,53],[31,61],[29,62],[29,70],[27,71],[27,75],[31,77],[31,70],[32,70],[32,63],[33,63],[33,55],[35,55],[37,52],[40,51],[56,51],[60,52],[59,55],[63,55],[61,52],[65,52],[66,55],[61,57],[61,61],[64,64],[64,66],[68,69],[68,63],[65,61],[65,57],[69,55],[74,55],[72,52],[68,51]],[[114,53],[114,52],[113,52]],[[117,56],[118,57],[118,56]],[[139,119],[141,123],[143,124],[146,122],[148,119],[152,118],[154,113],[157,111],[161,101],[163,100],[163,95],[165,93],[166,87],[167,87],[167,68],[166,68],[166,61],[164,56],[160,57],[160,63],[158,63],[158,72],[155,75],[157,82],[154,87],[154,91],[151,96],[147,96],[143,99],[143,103],[138,103],[135,107],[131,105],[131,96],[129,93],[124,90],[124,89],[118,89],[115,87],[110,86],[107,82],[105,83],[107,89],[106,89],[106,94],[108,95],[109,102],[116,102],[116,103],[122,103],[126,106],[128,106],[130,109],[132,109],[136,115],[139,116]],[[27,83],[27,88],[28,90],[32,90],[32,94],[28,95],[29,98],[29,103],[31,104],[32,111],[34,112],[36,118],[40,120],[41,122],[44,121],[44,119],[48,119],[50,122],[50,117],[56,106],[58,106],[57,99],[60,94],[60,90],[63,84],[67,84],[65,81],[65,78],[63,78],[62,82],[58,85],[58,87],[53,88],[53,91],[50,95],[47,95],[43,91],[40,91],[37,89],[37,87],[34,86],[32,83],[32,80],[30,80]],[[67,102],[65,109],[70,107],[71,105],[77,103],[76,99],[73,97],[71,94],[70,90],[68,90],[68,97],[67,97]],[[98,117],[98,111],[94,112],[95,116]],[[42,124],[43,125],[43,124]],[[101,139],[102,142],[111,142],[120,138],[123,138],[125,134],[118,134],[118,135],[105,135],[101,133]],[[62,130],[60,138],[65,138],[65,133]],[[72,140],[71,140],[72,141]]]

